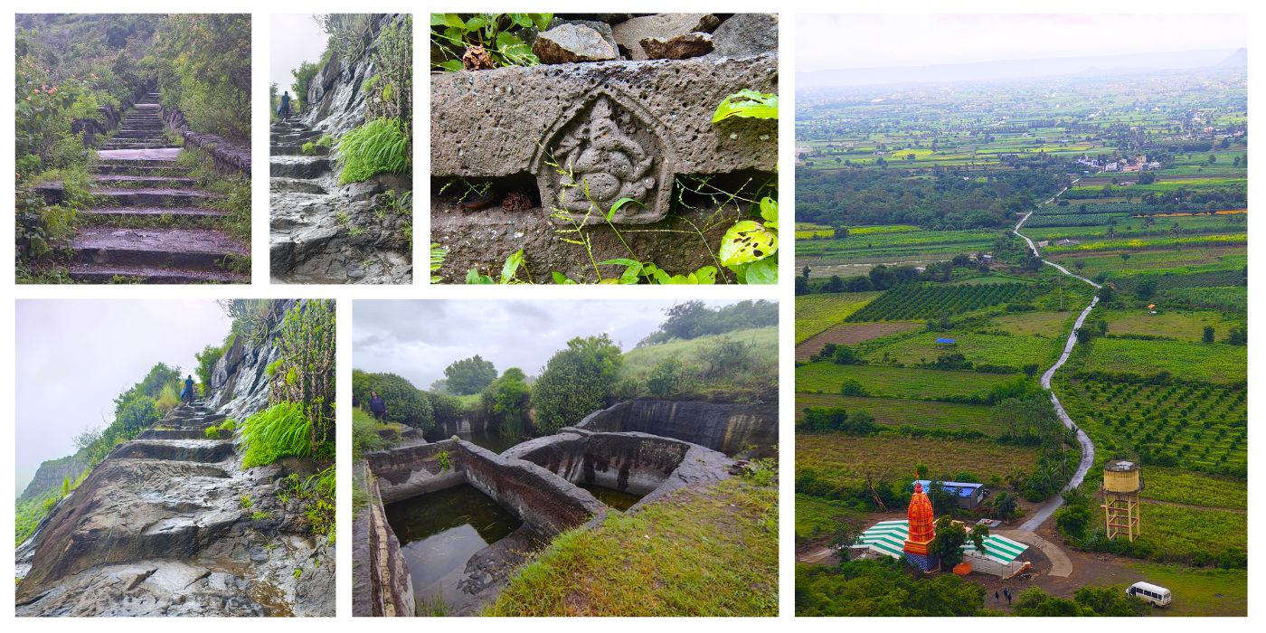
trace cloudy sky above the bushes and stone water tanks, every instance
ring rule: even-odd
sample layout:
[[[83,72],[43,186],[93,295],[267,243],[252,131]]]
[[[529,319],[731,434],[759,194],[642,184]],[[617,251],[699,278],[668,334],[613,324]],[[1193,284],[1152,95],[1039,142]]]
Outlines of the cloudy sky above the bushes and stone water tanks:
[[[733,301],[705,301],[725,305]],[[480,354],[496,371],[536,376],[575,337],[606,333],[628,351],[663,320],[674,301],[356,301],[352,362],[428,389],[453,361]]]

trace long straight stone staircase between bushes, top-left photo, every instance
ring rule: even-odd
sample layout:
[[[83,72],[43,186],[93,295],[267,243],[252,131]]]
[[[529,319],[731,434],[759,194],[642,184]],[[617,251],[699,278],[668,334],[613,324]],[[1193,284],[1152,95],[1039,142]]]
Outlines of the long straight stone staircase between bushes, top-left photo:
[[[208,206],[215,195],[176,162],[181,151],[165,134],[158,94],[149,92],[97,149],[92,206],[80,211],[87,222],[71,242],[73,280],[249,282],[228,265],[248,256],[249,244],[214,228],[225,211]]]

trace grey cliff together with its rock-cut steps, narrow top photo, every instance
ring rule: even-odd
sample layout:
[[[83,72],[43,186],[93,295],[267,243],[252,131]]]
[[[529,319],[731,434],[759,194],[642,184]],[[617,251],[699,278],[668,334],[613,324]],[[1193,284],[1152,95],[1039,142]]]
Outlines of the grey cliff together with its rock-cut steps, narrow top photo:
[[[365,82],[376,75],[372,53],[377,34],[403,19],[377,15],[371,43],[356,60],[337,52],[313,77],[306,110],[272,125],[271,233],[272,276],[286,284],[409,284],[411,252],[406,228],[411,211],[385,210],[381,197],[413,189],[408,175],[381,173],[366,182],[341,185],[334,156],[303,153],[322,135],[341,138],[365,123]],[[316,149],[314,149],[316,151]],[[319,152],[330,152],[320,148]]]

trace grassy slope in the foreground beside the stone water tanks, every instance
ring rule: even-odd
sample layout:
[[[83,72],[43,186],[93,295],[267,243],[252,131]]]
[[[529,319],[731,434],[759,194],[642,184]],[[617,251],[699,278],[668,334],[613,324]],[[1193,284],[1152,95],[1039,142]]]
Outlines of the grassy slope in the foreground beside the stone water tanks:
[[[777,522],[776,486],[682,489],[561,534],[484,614],[772,617]]]

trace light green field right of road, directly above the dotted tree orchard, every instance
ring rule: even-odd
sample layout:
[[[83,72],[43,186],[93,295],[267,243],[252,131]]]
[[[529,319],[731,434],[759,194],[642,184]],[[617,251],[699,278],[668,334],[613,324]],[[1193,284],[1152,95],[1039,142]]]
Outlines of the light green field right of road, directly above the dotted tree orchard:
[[[1138,376],[1167,371],[1175,377],[1206,382],[1243,381],[1248,368],[1248,349],[1225,343],[1096,338],[1084,357],[1081,371]]]

